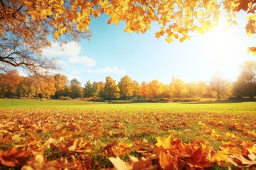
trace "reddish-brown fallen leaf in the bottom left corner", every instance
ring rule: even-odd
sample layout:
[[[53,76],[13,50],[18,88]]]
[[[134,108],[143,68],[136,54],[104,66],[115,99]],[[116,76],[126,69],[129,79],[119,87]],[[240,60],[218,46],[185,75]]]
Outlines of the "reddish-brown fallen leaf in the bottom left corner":
[[[31,155],[27,150],[18,151],[16,147],[11,147],[6,152],[0,151],[0,162],[5,166],[15,167],[24,164]]]

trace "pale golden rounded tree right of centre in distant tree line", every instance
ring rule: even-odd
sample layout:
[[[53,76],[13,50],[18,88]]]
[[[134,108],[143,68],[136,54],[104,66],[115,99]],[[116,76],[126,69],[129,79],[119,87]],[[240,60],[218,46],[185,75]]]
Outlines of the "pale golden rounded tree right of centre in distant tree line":
[[[186,94],[186,83],[182,79],[171,79],[170,84],[171,94],[176,98],[183,97]]]

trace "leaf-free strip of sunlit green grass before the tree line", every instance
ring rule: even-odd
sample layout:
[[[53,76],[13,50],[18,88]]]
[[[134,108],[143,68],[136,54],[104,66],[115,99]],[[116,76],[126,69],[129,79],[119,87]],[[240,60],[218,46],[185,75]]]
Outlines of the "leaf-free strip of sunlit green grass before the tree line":
[[[215,113],[256,113],[256,102],[220,102],[220,103],[119,103],[119,102],[86,102],[86,101],[40,101],[20,99],[0,99],[0,109],[21,108],[54,108],[75,110],[107,110],[107,111],[171,111],[184,112],[215,112]]]

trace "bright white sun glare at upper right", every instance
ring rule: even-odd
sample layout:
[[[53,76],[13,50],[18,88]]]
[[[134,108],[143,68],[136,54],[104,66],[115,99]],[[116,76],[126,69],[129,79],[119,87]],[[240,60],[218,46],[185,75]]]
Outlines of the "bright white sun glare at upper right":
[[[210,60],[208,68],[227,79],[235,80],[240,72],[241,62],[240,56],[236,53],[240,47],[239,35],[233,31],[233,28],[221,22],[206,33],[204,41],[203,50]]]

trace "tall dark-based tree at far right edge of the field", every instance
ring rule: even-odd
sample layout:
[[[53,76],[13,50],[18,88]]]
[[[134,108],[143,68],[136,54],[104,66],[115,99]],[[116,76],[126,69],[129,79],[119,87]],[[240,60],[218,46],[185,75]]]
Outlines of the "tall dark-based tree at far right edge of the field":
[[[238,97],[248,96],[249,98],[254,98],[256,96],[255,61],[250,60],[242,64],[240,76],[234,84],[234,92]]]

